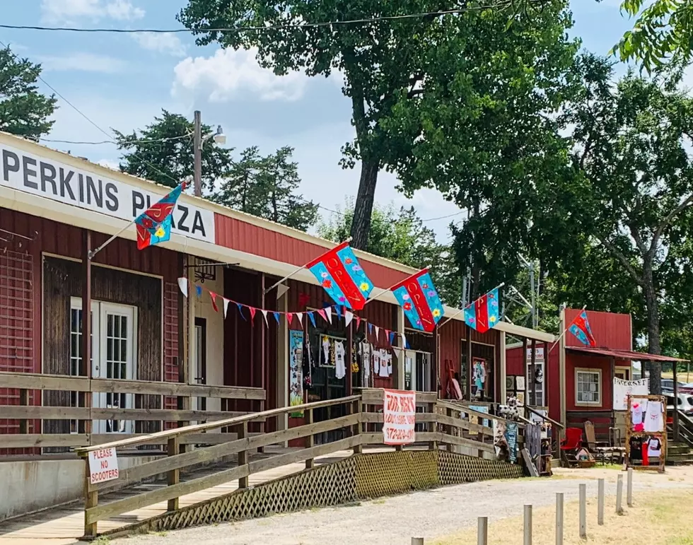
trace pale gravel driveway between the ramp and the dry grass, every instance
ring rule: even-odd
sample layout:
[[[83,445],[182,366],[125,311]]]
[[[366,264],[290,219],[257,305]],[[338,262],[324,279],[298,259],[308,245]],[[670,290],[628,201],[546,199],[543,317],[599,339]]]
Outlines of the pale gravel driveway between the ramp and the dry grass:
[[[264,519],[195,527],[177,532],[131,537],[137,545],[409,545],[412,537],[426,539],[453,534],[489,520],[522,514],[523,505],[537,507],[555,502],[563,492],[566,501],[577,499],[578,484],[586,483],[588,496],[597,495],[597,479],[607,479],[606,494],[615,496],[619,471],[559,470],[552,479],[518,479],[462,484],[383,498],[339,508],[325,508]],[[625,481],[625,474],[624,481]],[[672,467],[664,475],[634,474],[634,490],[693,488],[693,470]],[[624,482],[624,503],[625,503]],[[613,499],[607,499],[611,505]],[[120,541],[120,540],[119,540]],[[118,543],[117,541],[116,543]],[[124,544],[122,544],[124,545]]]

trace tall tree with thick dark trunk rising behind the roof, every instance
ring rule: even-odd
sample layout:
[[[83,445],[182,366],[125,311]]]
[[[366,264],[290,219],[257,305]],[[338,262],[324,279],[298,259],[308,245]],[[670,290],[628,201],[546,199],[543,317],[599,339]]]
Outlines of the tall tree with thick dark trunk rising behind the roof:
[[[199,45],[218,42],[235,49],[257,47],[260,64],[276,74],[303,70],[309,76],[330,76],[339,70],[344,75],[343,92],[351,100],[356,138],[344,146],[342,165],[354,168],[357,161],[361,163],[351,244],[365,248],[378,172],[390,168],[390,154],[410,156],[409,142],[396,131],[383,131],[383,120],[392,115],[399,102],[421,96],[421,86],[430,78],[423,69],[426,58],[439,48],[463,55],[468,42],[487,51],[489,57],[508,53],[498,47],[504,40],[508,17],[514,13],[507,0],[466,0],[458,6],[467,11],[445,17],[397,19],[412,13],[444,11],[449,6],[437,0],[289,0],[281,4],[272,0],[189,0],[178,19],[198,36]],[[489,16],[491,11],[503,18],[500,28],[487,23],[487,18],[495,22],[495,17]],[[395,19],[310,25],[379,17]],[[262,32],[208,30],[229,27],[267,28]],[[433,35],[429,35],[431,30]],[[509,54],[513,56],[513,52]],[[489,81],[495,76],[489,73]],[[460,74],[458,84],[463,86],[464,79]]]

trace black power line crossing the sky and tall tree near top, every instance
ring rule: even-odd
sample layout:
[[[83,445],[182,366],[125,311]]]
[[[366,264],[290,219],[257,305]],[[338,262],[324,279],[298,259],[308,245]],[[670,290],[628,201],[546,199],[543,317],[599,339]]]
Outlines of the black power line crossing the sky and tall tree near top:
[[[530,1],[540,1],[540,0],[530,0]],[[267,30],[302,30],[304,28],[319,28],[325,26],[338,26],[338,25],[359,25],[366,23],[379,23],[380,21],[389,20],[407,20],[407,19],[420,19],[424,17],[442,17],[445,15],[459,15],[460,13],[467,13],[469,11],[483,11],[485,9],[494,8],[508,8],[512,5],[511,0],[502,1],[496,4],[484,4],[483,6],[467,6],[466,8],[456,8],[448,9],[443,11],[425,11],[422,13],[404,13],[402,15],[392,15],[392,16],[378,16],[378,17],[368,17],[360,19],[347,19],[347,20],[329,20],[320,21],[317,23],[301,23],[296,24],[282,24],[282,25],[264,25],[264,26],[233,26],[233,27],[221,27],[221,28],[202,28],[199,29],[200,32],[219,32],[219,33],[231,33],[231,32],[264,32]],[[45,27],[36,25],[0,25],[0,28],[8,28],[11,30],[42,30],[48,32],[74,32],[74,33],[110,33],[110,34],[139,34],[139,33],[152,33],[152,34],[175,34],[175,33],[190,33],[191,30],[188,28],[76,28],[76,27]]]

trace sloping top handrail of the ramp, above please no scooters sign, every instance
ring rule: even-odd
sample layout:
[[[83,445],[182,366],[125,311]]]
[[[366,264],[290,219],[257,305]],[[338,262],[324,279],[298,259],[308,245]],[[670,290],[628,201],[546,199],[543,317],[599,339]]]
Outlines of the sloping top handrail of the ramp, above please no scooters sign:
[[[196,433],[206,430],[214,430],[216,428],[227,428],[231,426],[238,426],[244,422],[254,422],[254,421],[264,421],[272,416],[279,416],[280,414],[293,413],[296,411],[305,411],[308,409],[319,409],[320,407],[327,407],[332,405],[342,405],[345,403],[354,402],[361,399],[361,396],[349,396],[342,397],[339,399],[329,399],[322,402],[304,403],[301,405],[294,405],[289,407],[280,407],[279,409],[269,409],[267,411],[260,411],[258,413],[246,414],[243,416],[235,416],[233,418],[226,418],[225,420],[217,420],[214,422],[207,422],[204,424],[192,424],[190,426],[183,426],[182,428],[173,428],[172,430],[163,430],[156,433],[149,433],[147,435],[142,435],[141,437],[132,437],[128,439],[123,439],[119,441],[112,441],[110,443],[104,443],[103,445],[91,445],[90,447],[77,447],[74,451],[80,455],[84,456],[88,452],[93,450],[100,450],[105,448],[120,448],[127,447],[130,445],[139,445],[139,443],[151,442],[152,440],[163,440],[170,439],[178,435],[186,435],[187,433]]]

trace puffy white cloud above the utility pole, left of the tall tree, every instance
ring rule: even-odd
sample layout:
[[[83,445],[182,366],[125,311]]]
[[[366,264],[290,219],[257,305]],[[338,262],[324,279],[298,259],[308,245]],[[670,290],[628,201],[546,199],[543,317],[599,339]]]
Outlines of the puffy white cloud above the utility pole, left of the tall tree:
[[[175,66],[173,95],[204,93],[211,102],[252,94],[260,100],[298,100],[307,76],[292,72],[275,76],[255,60],[257,49],[218,49],[211,57],[187,57]]]

